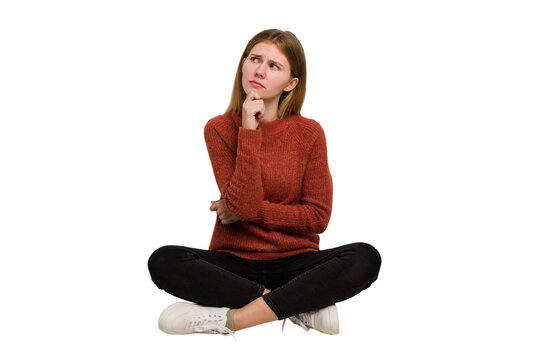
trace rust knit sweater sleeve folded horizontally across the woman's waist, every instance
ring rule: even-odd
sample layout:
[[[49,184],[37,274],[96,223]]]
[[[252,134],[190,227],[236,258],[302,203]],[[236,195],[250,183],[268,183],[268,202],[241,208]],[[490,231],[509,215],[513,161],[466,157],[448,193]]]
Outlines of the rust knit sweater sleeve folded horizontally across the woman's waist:
[[[309,155],[300,203],[287,205],[263,200],[254,221],[267,229],[319,234],[330,222],[332,197],[332,175],[328,167],[326,137],[322,131]]]

